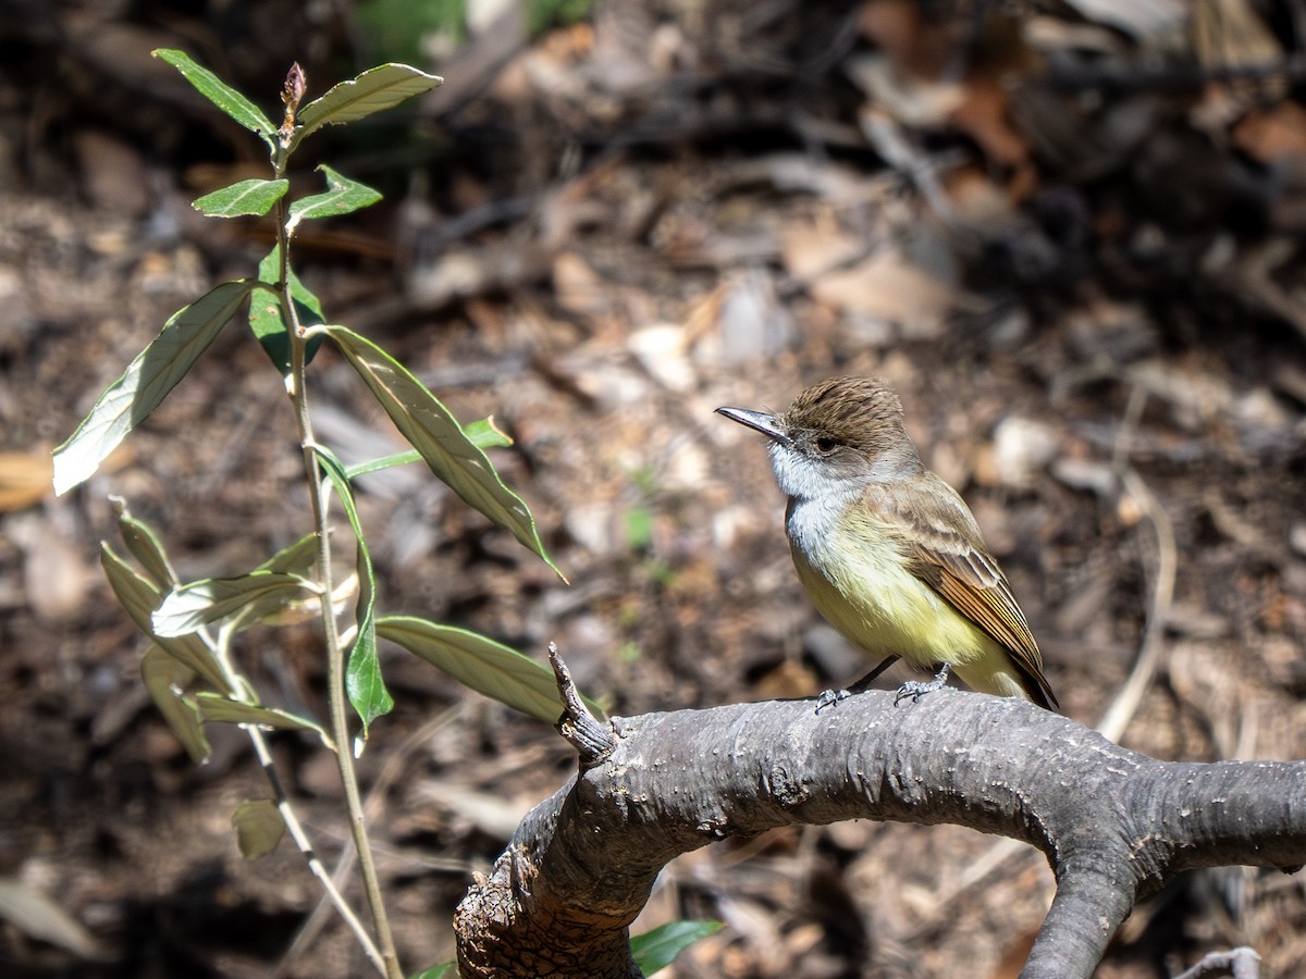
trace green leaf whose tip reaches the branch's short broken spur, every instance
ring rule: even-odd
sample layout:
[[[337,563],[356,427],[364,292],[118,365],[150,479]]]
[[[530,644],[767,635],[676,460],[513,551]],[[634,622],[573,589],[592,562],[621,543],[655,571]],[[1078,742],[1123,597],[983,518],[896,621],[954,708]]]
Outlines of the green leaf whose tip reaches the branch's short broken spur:
[[[377,619],[376,634],[522,714],[552,724],[563,713],[552,670],[486,636],[405,615]]]

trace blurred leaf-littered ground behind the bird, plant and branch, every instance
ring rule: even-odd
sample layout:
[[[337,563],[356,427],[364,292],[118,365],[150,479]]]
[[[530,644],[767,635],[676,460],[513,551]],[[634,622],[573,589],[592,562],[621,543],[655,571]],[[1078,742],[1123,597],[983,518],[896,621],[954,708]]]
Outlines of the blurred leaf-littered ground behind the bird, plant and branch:
[[[974,510],[1064,711],[1216,760],[1306,757],[1303,38],[1302,0],[0,0],[5,975],[367,972],[289,843],[240,859],[230,813],[268,795],[248,743],[214,727],[188,761],[98,565],[110,493],[183,577],[308,529],[243,325],[94,479],[50,492],[104,385],[272,241],[189,208],[266,159],[153,48],[274,119],[295,60],[310,97],[384,60],[445,78],[295,158],[295,193],[323,161],[385,192],[303,227],[299,273],[460,419],[512,433],[495,462],[572,583],[410,466],[363,483],[383,611],[556,641],[620,714],[845,684],[863,664],[802,595],[761,440],[712,411],[875,375]],[[329,351],[311,384],[347,461],[400,448]],[[248,637],[265,701],[323,715],[312,628]],[[469,875],[575,757],[383,655],[398,704],[362,775],[415,970],[452,957]],[[330,864],[333,762],[276,749]],[[1007,976],[1051,893],[1028,847],[854,822],[677,860],[635,931],[726,923],[682,979]],[[1306,974],[1303,933],[1299,876],[1194,873],[1100,975],[1239,944]]]

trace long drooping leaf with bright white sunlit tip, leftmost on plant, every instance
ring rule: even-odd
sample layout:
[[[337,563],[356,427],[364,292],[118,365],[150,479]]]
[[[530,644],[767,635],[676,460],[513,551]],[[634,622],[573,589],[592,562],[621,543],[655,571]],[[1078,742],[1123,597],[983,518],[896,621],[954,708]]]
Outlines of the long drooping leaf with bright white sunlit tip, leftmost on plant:
[[[248,281],[223,282],[172,313],[159,335],[104,389],[77,431],[55,449],[56,493],[94,474],[108,453],[150,416],[255,286]]]

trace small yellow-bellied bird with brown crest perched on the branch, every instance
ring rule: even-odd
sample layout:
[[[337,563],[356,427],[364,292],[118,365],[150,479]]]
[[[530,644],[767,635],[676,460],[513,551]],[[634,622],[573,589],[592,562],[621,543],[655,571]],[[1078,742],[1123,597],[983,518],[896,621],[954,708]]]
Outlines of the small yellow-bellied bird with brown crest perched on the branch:
[[[943,687],[952,668],[972,689],[1057,706],[1034,636],[974,517],[922,465],[902,403],[882,381],[821,381],[778,415],[717,411],[771,440],[776,482],[789,497],[789,550],[812,604],[883,658],[854,691],[902,658],[942,667],[934,684],[902,687],[913,698]]]

